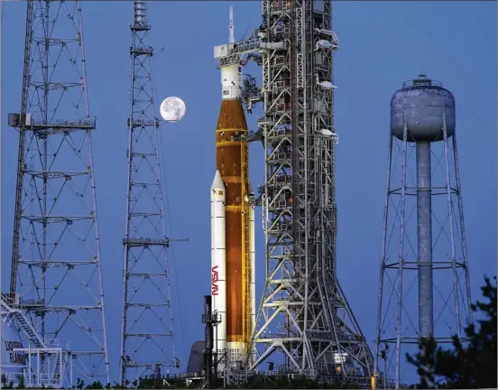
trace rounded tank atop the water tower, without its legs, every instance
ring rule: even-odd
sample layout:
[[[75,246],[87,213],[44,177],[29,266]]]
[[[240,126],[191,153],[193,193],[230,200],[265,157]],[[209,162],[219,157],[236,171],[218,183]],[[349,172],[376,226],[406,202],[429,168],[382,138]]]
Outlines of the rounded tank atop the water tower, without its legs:
[[[440,82],[420,75],[404,82],[392,96],[391,133],[403,139],[406,115],[409,142],[442,141],[443,114],[447,116],[449,137],[455,134],[455,98]]]

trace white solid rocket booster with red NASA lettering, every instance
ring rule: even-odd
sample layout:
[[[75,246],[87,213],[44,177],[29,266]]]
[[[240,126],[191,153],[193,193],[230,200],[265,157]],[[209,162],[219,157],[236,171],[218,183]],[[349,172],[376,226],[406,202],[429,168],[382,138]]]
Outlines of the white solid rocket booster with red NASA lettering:
[[[221,317],[217,326],[215,348],[222,353],[226,348],[226,232],[225,184],[219,171],[211,185],[211,296],[213,311]]]

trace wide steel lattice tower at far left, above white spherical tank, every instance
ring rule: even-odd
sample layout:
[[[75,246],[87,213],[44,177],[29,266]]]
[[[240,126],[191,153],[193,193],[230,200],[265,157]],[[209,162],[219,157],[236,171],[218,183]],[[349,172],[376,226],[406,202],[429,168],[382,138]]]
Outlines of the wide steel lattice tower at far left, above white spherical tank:
[[[70,339],[77,376],[108,383],[85,64],[80,2],[28,0],[10,290],[47,347]]]

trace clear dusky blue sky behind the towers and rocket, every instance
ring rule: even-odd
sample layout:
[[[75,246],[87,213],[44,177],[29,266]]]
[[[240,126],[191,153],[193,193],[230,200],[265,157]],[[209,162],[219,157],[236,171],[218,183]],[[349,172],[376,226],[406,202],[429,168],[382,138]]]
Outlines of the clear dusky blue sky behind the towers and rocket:
[[[108,348],[117,378],[122,299],[122,244],[129,23],[133,2],[83,2],[90,111],[106,292]],[[209,187],[220,101],[213,46],[227,39],[227,2],[151,2],[157,105],[178,96],[187,116],[161,127],[180,302],[177,346],[189,354],[203,337],[202,295],[210,265]],[[5,5],[2,26],[2,284],[9,280],[17,136],[6,126],[19,110],[25,4]],[[261,23],[258,1],[235,3],[235,37]],[[457,100],[457,134],[474,297],[484,274],[496,274],[496,4],[494,2],[354,2],[334,5],[340,49],[335,57],[338,276],[356,319],[374,338],[382,244],[389,103],[401,83],[420,71],[441,80]],[[261,79],[261,70],[246,70]],[[261,107],[248,124],[255,129]],[[254,188],[263,184],[263,149],[251,146]],[[261,214],[256,215],[258,297],[264,280]],[[173,299],[176,299],[173,296]],[[259,298],[258,298],[259,301]],[[183,330],[180,331],[180,312]]]

